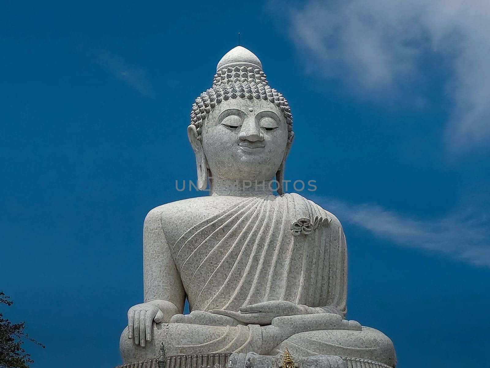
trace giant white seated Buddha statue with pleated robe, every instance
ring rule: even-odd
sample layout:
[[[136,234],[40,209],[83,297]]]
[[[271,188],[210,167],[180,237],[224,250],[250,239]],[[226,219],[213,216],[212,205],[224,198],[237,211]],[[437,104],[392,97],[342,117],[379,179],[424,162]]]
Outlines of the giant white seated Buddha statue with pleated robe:
[[[167,357],[198,357],[172,368],[211,367],[217,354],[274,356],[287,344],[291,356],[323,367],[395,367],[388,337],[345,319],[339,220],[283,192],[291,108],[257,56],[238,46],[221,58],[187,134],[198,187],[210,195],[147,214],[144,303],[127,313],[124,364],[138,367],[164,348]]]

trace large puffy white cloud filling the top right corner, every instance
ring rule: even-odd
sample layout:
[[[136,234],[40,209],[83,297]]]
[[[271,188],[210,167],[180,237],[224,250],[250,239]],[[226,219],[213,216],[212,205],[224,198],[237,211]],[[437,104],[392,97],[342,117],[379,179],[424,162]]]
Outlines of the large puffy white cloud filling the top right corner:
[[[417,79],[431,77],[423,57],[437,55],[454,102],[449,149],[490,138],[488,0],[310,0],[289,21],[307,67],[363,96],[410,97],[407,88],[415,92]]]

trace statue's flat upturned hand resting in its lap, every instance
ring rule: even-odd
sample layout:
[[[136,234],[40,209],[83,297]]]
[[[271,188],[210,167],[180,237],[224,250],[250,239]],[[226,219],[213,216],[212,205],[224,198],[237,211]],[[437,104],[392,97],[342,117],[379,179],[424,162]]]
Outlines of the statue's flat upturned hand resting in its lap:
[[[272,318],[279,317],[281,315],[306,315],[311,313],[318,313],[313,311],[313,308],[306,305],[298,305],[287,300],[270,300],[267,302],[251,304],[239,309],[239,312],[235,311],[223,311],[221,309],[214,309],[210,311],[218,315],[227,315],[228,317],[235,318],[240,322],[247,324],[270,324]]]

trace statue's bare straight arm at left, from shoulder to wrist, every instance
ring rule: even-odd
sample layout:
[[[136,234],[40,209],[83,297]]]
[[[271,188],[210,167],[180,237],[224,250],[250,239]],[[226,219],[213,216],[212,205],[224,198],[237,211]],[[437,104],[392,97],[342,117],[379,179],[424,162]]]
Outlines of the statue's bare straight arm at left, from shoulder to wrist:
[[[143,226],[145,303],[156,305],[165,319],[184,310],[185,291],[162,228],[162,210],[148,212]]]

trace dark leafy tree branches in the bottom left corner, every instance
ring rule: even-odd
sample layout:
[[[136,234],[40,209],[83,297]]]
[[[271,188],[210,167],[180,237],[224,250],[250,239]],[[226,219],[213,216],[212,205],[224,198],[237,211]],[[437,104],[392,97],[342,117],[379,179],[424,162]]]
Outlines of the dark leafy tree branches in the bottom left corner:
[[[0,291],[0,304],[8,307],[13,304],[10,297]],[[0,313],[0,368],[29,368],[29,363],[34,363],[30,355],[25,352],[22,344],[25,340],[45,347],[40,342],[30,338],[25,332],[25,322],[12,323],[3,318]]]

